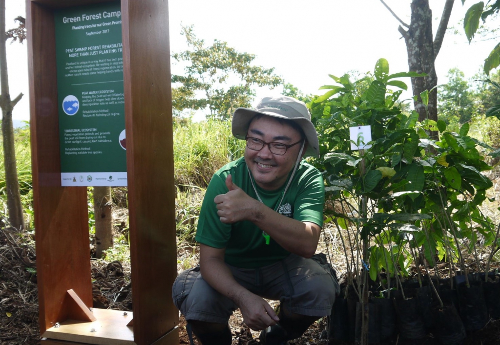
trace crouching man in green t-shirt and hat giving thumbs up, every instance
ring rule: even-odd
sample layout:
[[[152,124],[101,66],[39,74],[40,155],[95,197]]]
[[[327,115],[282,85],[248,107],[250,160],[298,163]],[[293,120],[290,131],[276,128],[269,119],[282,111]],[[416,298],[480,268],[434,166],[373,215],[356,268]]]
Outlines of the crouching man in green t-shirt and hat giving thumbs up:
[[[331,313],[338,290],[314,255],[324,184],[302,158],[319,156],[317,133],[304,103],[266,97],[235,110],[232,134],[246,140],[244,157],[210,180],[195,237],[199,266],[176,278],[172,297],[203,345],[231,344],[227,321],[237,308],[261,343],[287,344]],[[264,298],[279,300],[277,310]]]

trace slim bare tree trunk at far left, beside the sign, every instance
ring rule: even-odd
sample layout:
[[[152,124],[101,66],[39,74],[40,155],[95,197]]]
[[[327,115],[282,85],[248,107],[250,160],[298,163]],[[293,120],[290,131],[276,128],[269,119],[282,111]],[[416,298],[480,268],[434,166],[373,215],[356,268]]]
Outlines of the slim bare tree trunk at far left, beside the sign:
[[[0,0],[0,108],[2,112],[1,133],[3,136],[3,160],[5,165],[5,187],[7,191],[7,212],[9,225],[17,230],[24,228],[22,216],[19,181],[17,180],[17,166],[15,163],[14,129],[12,126],[12,109],[21,99],[22,94],[13,101],[10,100],[7,74],[7,53],[5,47],[5,0]]]

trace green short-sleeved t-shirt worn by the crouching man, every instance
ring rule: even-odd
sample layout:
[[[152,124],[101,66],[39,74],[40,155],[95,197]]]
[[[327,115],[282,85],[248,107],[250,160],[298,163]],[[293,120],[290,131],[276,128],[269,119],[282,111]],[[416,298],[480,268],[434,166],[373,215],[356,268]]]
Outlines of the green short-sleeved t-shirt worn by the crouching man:
[[[213,175],[206,189],[198,219],[196,241],[214,248],[225,248],[225,262],[241,268],[262,267],[288,256],[289,252],[272,238],[270,238],[269,244],[265,244],[262,230],[252,222],[240,221],[224,224],[219,220],[213,199],[219,194],[227,193],[225,178],[229,174],[236,186],[250,197],[258,200],[244,158],[224,165]],[[263,190],[256,184],[255,188],[262,202],[271,209],[287,217],[322,226],[324,184],[321,173],[302,160],[285,193],[281,206],[276,210],[287,183],[288,180],[274,191]]]

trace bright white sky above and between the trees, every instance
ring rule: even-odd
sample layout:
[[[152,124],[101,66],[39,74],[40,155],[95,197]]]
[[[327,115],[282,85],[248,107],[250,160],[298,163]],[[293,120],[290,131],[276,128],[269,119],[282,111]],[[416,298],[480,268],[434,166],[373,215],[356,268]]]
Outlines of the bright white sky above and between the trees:
[[[7,28],[13,28],[13,19],[25,16],[24,2],[6,3]],[[410,0],[385,3],[403,22],[410,22]],[[460,34],[453,35],[453,29],[448,29],[444,37],[435,61],[438,84],[446,82],[452,67],[463,71],[466,78],[474,76],[500,42],[498,37],[468,44],[460,20],[474,3],[467,0],[462,6],[455,1],[448,28],[454,27]],[[429,4],[435,32],[444,1],[429,0]],[[256,65],[274,68],[304,94],[321,94],[318,88],[333,82],[328,74],[373,71],[379,58],[387,59],[390,73],[408,70],[406,47],[397,31],[400,23],[379,0],[169,0],[168,6],[171,52],[187,48],[181,25],[193,25],[196,37],[206,44],[217,39],[256,55]],[[486,24],[498,27],[497,21]],[[7,65],[11,97],[24,94],[13,110],[13,119],[29,120],[26,44],[7,43]],[[182,73],[180,65],[171,67],[172,73]],[[405,82],[411,88],[409,80]],[[279,91],[257,90],[257,99]],[[408,93],[406,98],[410,96]]]

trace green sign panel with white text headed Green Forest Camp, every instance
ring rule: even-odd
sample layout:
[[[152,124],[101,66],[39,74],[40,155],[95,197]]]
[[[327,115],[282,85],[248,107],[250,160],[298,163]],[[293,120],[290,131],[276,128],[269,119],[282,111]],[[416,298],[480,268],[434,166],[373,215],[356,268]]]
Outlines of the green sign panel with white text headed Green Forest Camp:
[[[54,19],[61,185],[126,186],[120,4]]]

